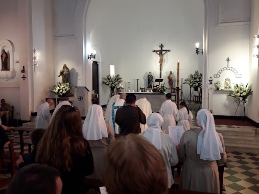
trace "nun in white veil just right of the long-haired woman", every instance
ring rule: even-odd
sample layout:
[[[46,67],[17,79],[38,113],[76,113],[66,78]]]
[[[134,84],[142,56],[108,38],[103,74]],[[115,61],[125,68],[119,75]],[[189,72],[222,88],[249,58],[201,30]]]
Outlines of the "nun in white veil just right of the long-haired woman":
[[[83,125],[84,138],[88,140],[93,157],[93,175],[87,178],[103,179],[103,157],[107,147],[115,140],[109,124],[105,123],[100,105],[91,105]]]

